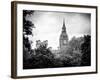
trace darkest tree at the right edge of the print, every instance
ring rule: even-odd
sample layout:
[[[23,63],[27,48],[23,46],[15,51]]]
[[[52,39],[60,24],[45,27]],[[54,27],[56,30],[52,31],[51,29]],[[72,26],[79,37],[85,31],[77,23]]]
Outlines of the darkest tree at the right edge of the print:
[[[84,36],[84,43],[81,45],[82,51],[82,66],[90,66],[91,65],[91,36]]]

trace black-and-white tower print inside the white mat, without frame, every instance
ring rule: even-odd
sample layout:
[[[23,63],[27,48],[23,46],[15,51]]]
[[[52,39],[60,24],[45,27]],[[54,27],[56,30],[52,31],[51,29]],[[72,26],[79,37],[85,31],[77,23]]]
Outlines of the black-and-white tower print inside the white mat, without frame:
[[[23,69],[91,66],[91,14],[23,10]]]

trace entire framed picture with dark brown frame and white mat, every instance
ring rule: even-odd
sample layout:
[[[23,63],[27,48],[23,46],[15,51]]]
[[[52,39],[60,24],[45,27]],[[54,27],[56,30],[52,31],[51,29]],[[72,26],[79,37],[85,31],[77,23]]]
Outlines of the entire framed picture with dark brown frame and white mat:
[[[97,7],[12,2],[12,77],[97,73]]]

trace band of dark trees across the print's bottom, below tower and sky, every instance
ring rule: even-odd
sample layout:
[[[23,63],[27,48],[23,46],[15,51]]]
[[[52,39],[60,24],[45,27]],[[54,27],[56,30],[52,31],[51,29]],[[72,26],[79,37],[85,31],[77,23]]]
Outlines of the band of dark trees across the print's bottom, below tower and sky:
[[[47,47],[41,45],[35,50],[24,50],[23,68],[55,68],[55,67],[74,67],[90,66],[91,63],[91,37],[85,35],[80,38],[72,38],[66,51],[62,51],[60,57],[56,58],[54,53]],[[29,57],[28,57],[29,56]]]

